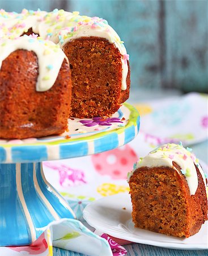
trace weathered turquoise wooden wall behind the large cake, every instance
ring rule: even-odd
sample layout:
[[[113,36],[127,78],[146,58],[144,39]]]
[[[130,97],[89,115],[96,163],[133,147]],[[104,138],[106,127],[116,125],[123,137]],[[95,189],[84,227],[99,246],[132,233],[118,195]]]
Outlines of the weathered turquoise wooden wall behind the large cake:
[[[208,92],[207,0],[0,0],[0,8],[100,16],[125,42],[132,87]]]

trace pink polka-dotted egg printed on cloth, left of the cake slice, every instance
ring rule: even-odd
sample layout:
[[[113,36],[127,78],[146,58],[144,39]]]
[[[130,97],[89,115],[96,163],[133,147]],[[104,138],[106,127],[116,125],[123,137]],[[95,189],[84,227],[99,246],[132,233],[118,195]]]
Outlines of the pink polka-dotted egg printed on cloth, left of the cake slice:
[[[94,168],[100,175],[109,175],[112,179],[126,179],[128,170],[137,160],[137,155],[129,145],[91,156]]]

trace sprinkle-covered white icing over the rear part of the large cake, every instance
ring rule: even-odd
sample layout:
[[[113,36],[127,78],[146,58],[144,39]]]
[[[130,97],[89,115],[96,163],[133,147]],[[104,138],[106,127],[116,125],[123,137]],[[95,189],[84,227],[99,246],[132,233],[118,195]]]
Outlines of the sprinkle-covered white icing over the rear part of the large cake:
[[[70,40],[83,36],[107,39],[121,53],[121,89],[126,90],[129,55],[126,53],[124,42],[121,41],[116,31],[108,25],[107,20],[99,17],[81,16],[77,11],[69,13],[58,9],[50,13],[24,9],[21,14],[7,13],[0,10],[0,38],[18,38],[29,28],[32,28],[32,31],[39,34],[43,39],[49,39],[56,44],[60,44],[61,48]]]

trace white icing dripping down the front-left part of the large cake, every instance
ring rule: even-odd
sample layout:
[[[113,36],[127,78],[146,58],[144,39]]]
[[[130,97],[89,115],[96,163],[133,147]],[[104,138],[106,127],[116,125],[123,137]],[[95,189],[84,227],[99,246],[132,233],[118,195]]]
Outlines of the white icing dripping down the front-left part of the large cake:
[[[59,45],[54,44],[49,40],[43,40],[40,37],[36,38],[35,35],[24,35],[15,40],[0,40],[0,68],[2,61],[17,49],[33,51],[37,55],[39,64],[39,76],[36,83],[37,92],[45,92],[46,90],[49,90],[57,79],[63,59],[68,61]],[[51,63],[53,63],[53,66]]]

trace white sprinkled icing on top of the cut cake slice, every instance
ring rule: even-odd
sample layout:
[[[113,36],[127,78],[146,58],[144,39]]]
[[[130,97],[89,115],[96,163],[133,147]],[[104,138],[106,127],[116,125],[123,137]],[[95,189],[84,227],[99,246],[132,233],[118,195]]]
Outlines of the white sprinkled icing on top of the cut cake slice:
[[[198,167],[206,188],[205,174],[201,166],[198,164],[198,159],[196,156],[190,152],[190,148],[186,150],[184,147],[174,143],[164,144],[163,146],[160,146],[151,151],[148,155],[145,156],[145,158],[140,159],[137,164],[135,164],[133,171],[129,173],[128,181],[133,175],[134,171],[140,167],[151,168],[157,166],[167,166],[178,171],[173,166],[173,162],[178,164],[181,168],[182,174],[185,174],[185,178],[190,190],[190,195],[194,195],[198,188],[198,176],[194,164]]]

